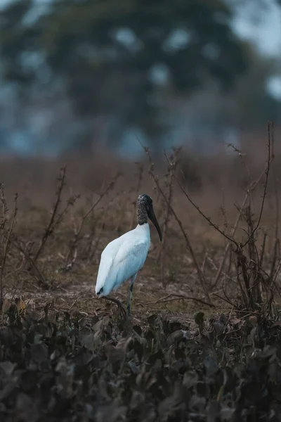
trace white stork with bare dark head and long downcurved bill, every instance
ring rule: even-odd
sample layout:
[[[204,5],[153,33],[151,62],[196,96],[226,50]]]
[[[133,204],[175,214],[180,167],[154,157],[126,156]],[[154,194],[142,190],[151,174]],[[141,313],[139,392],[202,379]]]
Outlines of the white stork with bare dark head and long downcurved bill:
[[[150,248],[150,226],[148,219],[155,225],[162,241],[162,231],[153,210],[152,198],[146,193],[138,196],[136,203],[138,225],[135,229],[127,231],[112,242],[108,243],[100,257],[98,276],[96,279],[96,295],[116,302],[122,312],[127,316],[131,314],[131,298],[133,283],[138,271],[143,267]],[[112,290],[117,290],[124,281],[130,280],[129,298],[126,311],[117,299],[108,295]]]

